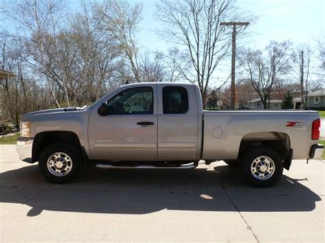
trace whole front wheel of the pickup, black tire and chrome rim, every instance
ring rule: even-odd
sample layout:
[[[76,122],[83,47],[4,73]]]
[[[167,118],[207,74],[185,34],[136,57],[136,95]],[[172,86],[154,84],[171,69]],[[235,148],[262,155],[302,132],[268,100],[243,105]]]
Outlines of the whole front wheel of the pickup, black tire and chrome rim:
[[[80,153],[74,146],[51,144],[40,153],[38,168],[48,181],[67,183],[77,176],[81,163]]]

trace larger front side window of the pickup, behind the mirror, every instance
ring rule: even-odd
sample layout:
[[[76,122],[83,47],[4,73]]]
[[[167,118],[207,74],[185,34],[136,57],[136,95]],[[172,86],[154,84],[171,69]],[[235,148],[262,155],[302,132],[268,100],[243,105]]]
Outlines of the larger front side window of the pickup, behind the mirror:
[[[153,96],[150,87],[123,90],[108,101],[108,114],[153,114]]]

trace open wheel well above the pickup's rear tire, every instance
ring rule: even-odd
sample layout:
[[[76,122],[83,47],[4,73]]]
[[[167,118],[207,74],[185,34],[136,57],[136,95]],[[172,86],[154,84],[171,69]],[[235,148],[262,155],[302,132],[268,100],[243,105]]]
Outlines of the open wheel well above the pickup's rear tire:
[[[290,138],[287,133],[281,132],[248,133],[241,140],[238,157],[242,157],[246,151],[253,148],[274,149],[285,159],[290,153]]]

